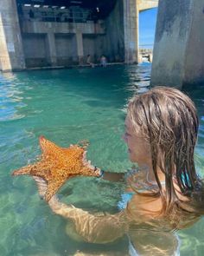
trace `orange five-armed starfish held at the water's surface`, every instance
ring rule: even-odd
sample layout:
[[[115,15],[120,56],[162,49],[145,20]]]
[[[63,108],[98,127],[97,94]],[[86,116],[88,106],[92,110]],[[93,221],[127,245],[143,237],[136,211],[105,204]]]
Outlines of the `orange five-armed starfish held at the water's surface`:
[[[83,145],[70,145],[69,148],[61,148],[40,137],[41,161],[33,165],[15,170],[12,175],[38,176],[48,183],[45,200],[50,200],[60,187],[73,176],[95,176],[99,177],[100,169],[91,166],[91,161],[86,161],[86,147]]]

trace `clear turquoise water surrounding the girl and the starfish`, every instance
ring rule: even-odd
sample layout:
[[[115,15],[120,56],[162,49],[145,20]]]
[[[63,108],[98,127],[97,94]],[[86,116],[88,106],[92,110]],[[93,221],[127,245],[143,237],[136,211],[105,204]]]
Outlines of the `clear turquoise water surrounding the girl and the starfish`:
[[[0,255],[125,255],[126,238],[99,246],[72,240],[66,220],[39,199],[30,177],[12,170],[36,161],[38,137],[61,147],[88,139],[94,165],[121,172],[131,163],[121,139],[128,99],[145,91],[150,65],[63,69],[0,75]],[[187,89],[201,121],[196,165],[204,174],[204,87]],[[77,207],[114,213],[123,187],[94,178],[67,182],[60,195]],[[204,220],[179,232],[181,255],[203,255]],[[106,254],[105,254],[106,255]]]

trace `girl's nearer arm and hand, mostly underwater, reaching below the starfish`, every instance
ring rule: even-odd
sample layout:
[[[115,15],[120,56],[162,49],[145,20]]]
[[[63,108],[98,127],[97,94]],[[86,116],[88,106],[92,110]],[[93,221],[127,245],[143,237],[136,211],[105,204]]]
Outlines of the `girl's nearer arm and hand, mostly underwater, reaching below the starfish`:
[[[47,183],[41,178],[34,178],[39,188],[39,194],[43,197],[48,187]],[[122,237],[128,230],[125,212],[94,215],[72,205],[62,203],[56,195],[48,201],[48,205],[54,213],[72,220],[76,233],[88,242],[109,243]]]

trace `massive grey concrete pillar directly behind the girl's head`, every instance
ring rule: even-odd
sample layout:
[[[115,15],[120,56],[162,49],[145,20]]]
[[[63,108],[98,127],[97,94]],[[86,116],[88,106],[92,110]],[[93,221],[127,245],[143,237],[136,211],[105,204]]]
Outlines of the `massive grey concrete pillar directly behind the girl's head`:
[[[203,0],[159,2],[151,85],[204,82],[203,27]]]

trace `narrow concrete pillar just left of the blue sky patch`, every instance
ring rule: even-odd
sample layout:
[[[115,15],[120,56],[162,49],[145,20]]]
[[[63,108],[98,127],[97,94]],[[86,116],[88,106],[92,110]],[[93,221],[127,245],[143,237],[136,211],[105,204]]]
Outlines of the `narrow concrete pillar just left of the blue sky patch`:
[[[126,63],[139,62],[138,24],[137,0],[124,0],[124,60]]]

